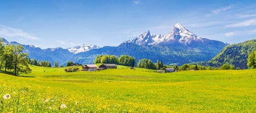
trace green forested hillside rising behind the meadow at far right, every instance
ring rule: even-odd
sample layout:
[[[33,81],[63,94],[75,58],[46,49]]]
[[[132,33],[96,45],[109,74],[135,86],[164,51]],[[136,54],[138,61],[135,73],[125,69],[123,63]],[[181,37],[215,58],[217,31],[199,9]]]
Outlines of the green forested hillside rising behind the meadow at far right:
[[[212,66],[221,66],[224,63],[229,63],[236,68],[247,69],[247,58],[254,50],[256,50],[256,39],[228,45],[208,63]]]

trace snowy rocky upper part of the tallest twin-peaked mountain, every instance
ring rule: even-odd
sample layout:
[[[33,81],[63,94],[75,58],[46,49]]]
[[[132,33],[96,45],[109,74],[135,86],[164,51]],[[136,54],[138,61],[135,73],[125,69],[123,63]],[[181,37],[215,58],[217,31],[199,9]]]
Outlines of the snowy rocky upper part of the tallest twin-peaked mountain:
[[[173,26],[173,29],[171,29],[171,31],[166,35],[150,34],[150,31],[147,31],[140,34],[139,37],[125,41],[124,43],[137,45],[190,45],[194,42],[203,43],[208,40],[209,39],[196,36],[180,23],[176,23],[176,25]]]

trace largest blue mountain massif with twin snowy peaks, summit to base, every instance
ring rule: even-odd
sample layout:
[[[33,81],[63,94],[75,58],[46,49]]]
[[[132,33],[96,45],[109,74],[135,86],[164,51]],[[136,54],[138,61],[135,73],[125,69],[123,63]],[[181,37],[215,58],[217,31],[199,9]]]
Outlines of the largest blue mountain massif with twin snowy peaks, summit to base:
[[[146,31],[139,37],[122,42],[117,47],[102,47],[77,53],[72,61],[82,64],[93,63],[96,55],[109,54],[134,56],[136,61],[147,58],[153,62],[162,60],[165,64],[181,65],[211,60],[226,45],[228,44],[198,37],[177,23],[166,35],[155,35]]]

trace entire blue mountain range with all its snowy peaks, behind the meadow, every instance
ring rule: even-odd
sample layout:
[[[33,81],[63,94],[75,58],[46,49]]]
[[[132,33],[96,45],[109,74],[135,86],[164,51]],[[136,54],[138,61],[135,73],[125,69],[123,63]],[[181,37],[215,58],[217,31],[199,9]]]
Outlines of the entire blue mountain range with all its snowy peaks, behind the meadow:
[[[7,42],[7,41],[5,41]],[[10,42],[14,44],[15,42]],[[17,42],[16,42],[17,43]],[[184,64],[197,61],[209,61],[228,44],[198,37],[180,23],[173,26],[166,35],[151,34],[146,31],[117,47],[98,47],[96,45],[78,45],[69,49],[40,49],[33,45],[23,45],[30,58],[36,60],[58,61],[64,64],[71,60],[74,63],[91,64],[97,55],[130,55],[136,60],[147,58],[164,64]]]

